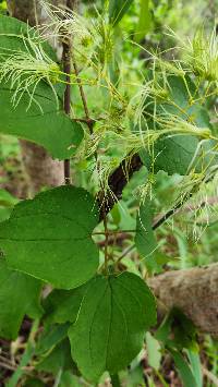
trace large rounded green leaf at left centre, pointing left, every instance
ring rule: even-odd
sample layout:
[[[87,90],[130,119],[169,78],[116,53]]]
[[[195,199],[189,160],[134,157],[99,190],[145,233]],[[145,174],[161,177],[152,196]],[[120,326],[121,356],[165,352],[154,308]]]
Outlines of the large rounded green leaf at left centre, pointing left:
[[[11,268],[72,289],[97,270],[98,249],[92,240],[97,223],[88,192],[59,186],[16,205],[0,223],[0,243]]]

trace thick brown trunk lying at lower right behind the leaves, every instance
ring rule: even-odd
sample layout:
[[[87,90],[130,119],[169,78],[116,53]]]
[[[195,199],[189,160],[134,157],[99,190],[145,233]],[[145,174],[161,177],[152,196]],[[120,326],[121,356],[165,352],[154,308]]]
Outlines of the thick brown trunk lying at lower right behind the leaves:
[[[203,332],[218,335],[218,263],[171,270],[148,281],[160,316],[180,309]]]

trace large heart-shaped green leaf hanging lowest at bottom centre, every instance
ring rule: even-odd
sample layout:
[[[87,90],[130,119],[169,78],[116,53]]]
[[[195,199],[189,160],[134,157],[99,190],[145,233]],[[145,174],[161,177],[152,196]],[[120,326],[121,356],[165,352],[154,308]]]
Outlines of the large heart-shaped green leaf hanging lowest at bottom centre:
[[[89,380],[123,370],[140,352],[156,323],[156,304],[146,283],[131,273],[90,280],[76,322],[69,330],[72,356]]]

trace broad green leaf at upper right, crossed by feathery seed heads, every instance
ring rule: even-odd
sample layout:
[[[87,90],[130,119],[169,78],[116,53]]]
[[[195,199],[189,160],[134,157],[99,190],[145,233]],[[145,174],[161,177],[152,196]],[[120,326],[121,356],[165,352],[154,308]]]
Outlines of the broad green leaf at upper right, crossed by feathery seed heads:
[[[211,129],[207,111],[199,102],[193,102],[190,95],[197,99],[197,90],[194,83],[187,77],[185,81],[179,76],[168,76],[167,100],[157,105],[157,111],[170,119],[170,114],[195,123],[198,128]],[[187,92],[189,88],[189,92]],[[199,141],[193,135],[177,135],[161,137],[154,146],[154,171],[157,173],[164,170],[169,174],[187,173],[189,167],[194,160],[193,167],[196,171],[202,171],[208,162],[216,162],[213,153],[209,149],[214,144],[207,141],[202,144],[196,154]],[[144,155],[145,156],[145,155]],[[143,157],[145,160],[145,157]],[[150,166],[149,156],[146,155],[146,165]],[[148,161],[149,160],[149,161]]]

